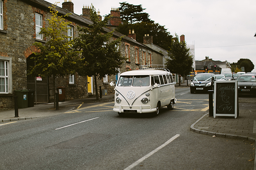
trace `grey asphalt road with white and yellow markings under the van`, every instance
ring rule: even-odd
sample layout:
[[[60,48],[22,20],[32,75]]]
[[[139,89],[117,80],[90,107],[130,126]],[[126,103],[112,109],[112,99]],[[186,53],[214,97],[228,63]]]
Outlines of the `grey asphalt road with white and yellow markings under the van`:
[[[156,117],[87,103],[57,116],[0,126],[4,170],[252,170],[254,144],[190,131],[208,94],[176,88],[174,109]]]

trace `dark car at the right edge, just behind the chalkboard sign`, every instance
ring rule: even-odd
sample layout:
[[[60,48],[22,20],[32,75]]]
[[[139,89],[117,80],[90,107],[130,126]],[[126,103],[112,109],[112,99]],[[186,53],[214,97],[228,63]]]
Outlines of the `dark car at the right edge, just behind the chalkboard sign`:
[[[256,95],[256,76],[244,74],[237,77],[238,94]]]

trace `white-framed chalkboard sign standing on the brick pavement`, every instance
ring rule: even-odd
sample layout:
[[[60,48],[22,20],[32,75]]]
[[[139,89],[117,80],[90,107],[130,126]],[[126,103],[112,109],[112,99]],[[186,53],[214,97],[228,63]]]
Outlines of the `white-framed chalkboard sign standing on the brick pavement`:
[[[215,81],[213,117],[237,118],[238,112],[237,81]]]

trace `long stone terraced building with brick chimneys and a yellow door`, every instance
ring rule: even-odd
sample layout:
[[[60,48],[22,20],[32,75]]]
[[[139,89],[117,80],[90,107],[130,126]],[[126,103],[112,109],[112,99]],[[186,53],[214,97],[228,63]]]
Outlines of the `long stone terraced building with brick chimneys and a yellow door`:
[[[68,20],[71,22],[70,38],[78,36],[77,26],[88,26],[90,13],[88,8],[83,7],[81,16],[73,13],[73,2],[62,3],[61,7],[56,7],[59,14],[71,13]],[[14,98],[16,90],[31,89],[35,90],[34,102],[53,102],[53,87],[61,88],[65,91],[65,100],[78,98],[87,98],[88,94],[95,93],[93,79],[83,77],[78,74],[57,77],[56,84],[52,84],[52,78],[42,79],[41,77],[27,76],[27,67],[33,65],[31,56],[37,52],[34,42],[45,43],[47,40],[39,35],[40,28],[47,27],[47,19],[50,19],[50,7],[52,4],[44,0],[0,0],[0,109],[9,109],[14,107]],[[90,9],[89,9],[90,10]],[[117,15],[113,15],[111,26],[121,22],[120,12],[111,10]],[[100,14],[98,14],[100,16]],[[89,18],[88,18],[89,17]],[[101,17],[99,17],[101,18]],[[104,32],[111,29],[104,28]],[[127,56],[127,60],[121,65],[120,72],[139,69],[140,65],[153,64],[154,57],[161,54],[139,43],[132,37],[124,36],[121,33],[113,33],[112,38],[123,37],[119,46],[121,54]],[[107,93],[112,93],[109,82],[116,81],[118,75],[107,76],[98,81]],[[99,90],[99,89],[97,89]]]

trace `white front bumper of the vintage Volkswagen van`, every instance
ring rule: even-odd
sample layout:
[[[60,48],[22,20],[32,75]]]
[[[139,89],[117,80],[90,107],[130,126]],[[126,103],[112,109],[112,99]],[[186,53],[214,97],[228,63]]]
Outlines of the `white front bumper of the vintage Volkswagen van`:
[[[113,111],[119,113],[152,113],[156,112],[156,108],[140,105],[132,106],[132,108],[130,109],[130,106],[114,105]]]

